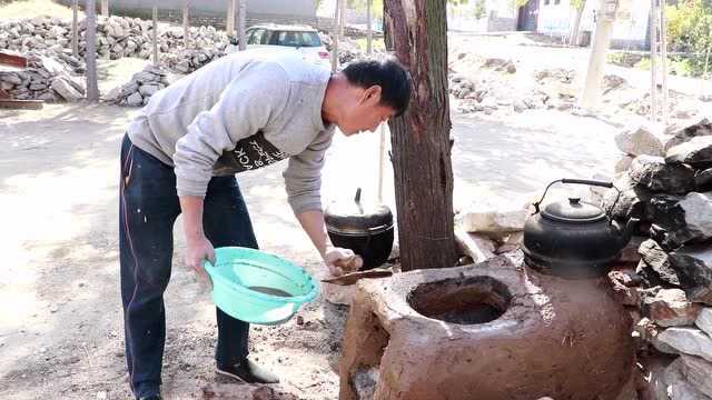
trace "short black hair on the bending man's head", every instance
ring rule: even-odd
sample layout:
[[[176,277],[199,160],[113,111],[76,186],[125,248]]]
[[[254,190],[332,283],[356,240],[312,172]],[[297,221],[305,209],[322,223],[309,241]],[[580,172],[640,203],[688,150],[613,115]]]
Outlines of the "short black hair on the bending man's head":
[[[342,72],[348,82],[359,88],[380,87],[380,104],[395,110],[396,117],[408,108],[411,102],[411,77],[394,58],[368,59],[348,64]]]

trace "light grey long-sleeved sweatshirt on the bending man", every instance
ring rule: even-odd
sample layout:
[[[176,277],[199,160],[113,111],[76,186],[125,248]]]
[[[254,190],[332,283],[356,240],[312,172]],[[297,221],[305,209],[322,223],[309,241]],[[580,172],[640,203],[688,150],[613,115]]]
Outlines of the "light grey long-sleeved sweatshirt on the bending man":
[[[175,168],[178,196],[205,197],[211,177],[288,158],[284,178],[294,212],[320,210],[322,167],[334,134],[322,119],[329,78],[297,52],[226,56],[151,96],[128,134]]]

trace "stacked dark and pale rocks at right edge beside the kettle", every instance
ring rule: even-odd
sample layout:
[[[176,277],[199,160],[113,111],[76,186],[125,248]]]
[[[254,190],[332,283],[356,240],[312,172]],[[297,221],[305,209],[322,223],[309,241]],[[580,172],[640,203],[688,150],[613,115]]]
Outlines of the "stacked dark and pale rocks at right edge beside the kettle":
[[[642,220],[636,270],[614,272],[616,293],[640,313],[647,349],[675,357],[657,371],[656,399],[712,399],[712,123],[616,137],[627,156],[604,196],[616,218]],[[625,168],[626,164],[629,164]]]

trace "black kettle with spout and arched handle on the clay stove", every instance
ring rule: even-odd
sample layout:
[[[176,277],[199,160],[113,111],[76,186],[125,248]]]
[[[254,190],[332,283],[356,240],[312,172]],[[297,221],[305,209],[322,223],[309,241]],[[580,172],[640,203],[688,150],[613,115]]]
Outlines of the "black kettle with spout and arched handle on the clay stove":
[[[552,202],[540,210],[546,192],[554,183],[577,183],[614,188],[611,182],[562,179],[551,182],[536,211],[524,226],[524,260],[541,272],[564,278],[594,278],[606,274],[621,250],[627,244],[639,220],[630,219],[622,228],[601,207],[570,198]],[[616,189],[617,190],[617,189]],[[619,191],[619,198],[621,192]],[[615,202],[611,207],[615,207]]]

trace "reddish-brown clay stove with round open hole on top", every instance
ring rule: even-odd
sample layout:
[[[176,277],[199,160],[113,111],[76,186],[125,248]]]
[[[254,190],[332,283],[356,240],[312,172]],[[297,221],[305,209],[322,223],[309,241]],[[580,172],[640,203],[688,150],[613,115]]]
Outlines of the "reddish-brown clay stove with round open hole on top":
[[[564,281],[505,257],[358,284],[340,399],[620,399],[631,320],[604,280]]]

